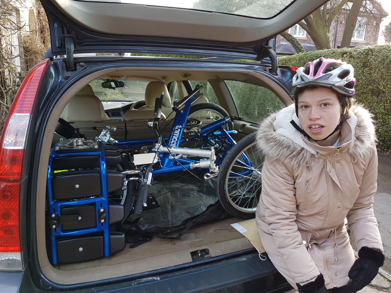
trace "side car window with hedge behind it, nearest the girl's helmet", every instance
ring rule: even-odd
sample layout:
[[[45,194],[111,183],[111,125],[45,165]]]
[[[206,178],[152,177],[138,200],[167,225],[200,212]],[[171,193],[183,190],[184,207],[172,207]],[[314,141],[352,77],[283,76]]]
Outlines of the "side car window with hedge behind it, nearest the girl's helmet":
[[[240,81],[225,81],[239,116],[245,121],[259,123],[271,112],[281,109],[281,100],[269,89]]]

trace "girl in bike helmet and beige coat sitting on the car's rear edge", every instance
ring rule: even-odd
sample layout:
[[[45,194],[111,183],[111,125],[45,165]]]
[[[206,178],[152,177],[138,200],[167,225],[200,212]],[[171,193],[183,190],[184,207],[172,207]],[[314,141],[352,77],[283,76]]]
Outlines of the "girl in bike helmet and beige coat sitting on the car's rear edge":
[[[371,114],[352,105],[353,72],[324,58],[299,68],[295,104],[265,119],[257,133],[265,154],[259,234],[277,270],[301,293],[358,291],[384,263],[373,214],[375,129]]]

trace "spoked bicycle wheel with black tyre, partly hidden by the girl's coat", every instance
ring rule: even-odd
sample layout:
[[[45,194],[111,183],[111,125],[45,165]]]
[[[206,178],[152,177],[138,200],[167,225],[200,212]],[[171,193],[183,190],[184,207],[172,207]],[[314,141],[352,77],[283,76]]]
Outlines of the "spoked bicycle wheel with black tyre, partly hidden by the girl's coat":
[[[264,157],[255,148],[255,133],[233,146],[220,166],[217,191],[221,205],[239,218],[255,217],[262,189]]]

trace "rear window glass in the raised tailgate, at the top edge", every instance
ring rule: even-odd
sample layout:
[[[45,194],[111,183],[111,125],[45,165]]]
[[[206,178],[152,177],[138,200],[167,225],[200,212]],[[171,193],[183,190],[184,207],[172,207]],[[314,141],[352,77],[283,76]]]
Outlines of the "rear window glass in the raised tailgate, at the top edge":
[[[120,2],[161,7],[187,8],[210,12],[236,14],[253,18],[271,18],[296,0],[89,0],[91,2]]]

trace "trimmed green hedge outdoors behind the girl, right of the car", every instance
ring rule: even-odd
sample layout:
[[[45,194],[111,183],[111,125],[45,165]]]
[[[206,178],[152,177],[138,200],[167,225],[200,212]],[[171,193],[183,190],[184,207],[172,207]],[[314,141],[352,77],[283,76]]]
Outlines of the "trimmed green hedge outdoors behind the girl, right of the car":
[[[375,115],[378,149],[391,150],[391,44],[327,49],[278,58],[279,65],[301,67],[319,57],[352,64],[357,80],[355,99]]]

